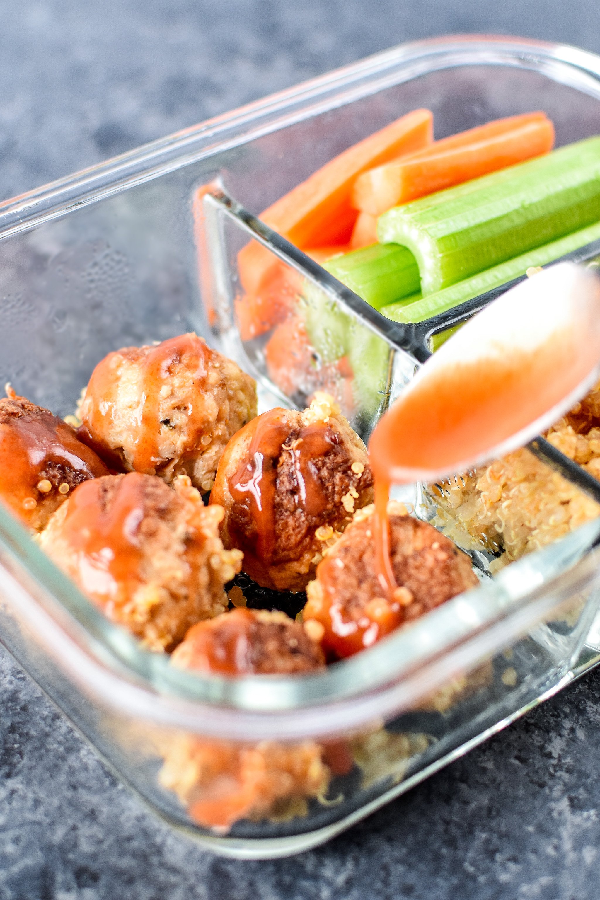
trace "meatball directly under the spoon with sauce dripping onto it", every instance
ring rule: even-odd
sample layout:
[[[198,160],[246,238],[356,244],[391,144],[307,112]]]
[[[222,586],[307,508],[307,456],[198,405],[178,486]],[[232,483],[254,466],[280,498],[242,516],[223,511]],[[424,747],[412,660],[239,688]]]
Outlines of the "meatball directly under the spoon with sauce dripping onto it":
[[[307,588],[304,626],[329,658],[351,656],[479,583],[469,556],[392,502],[390,560],[398,587],[391,599],[382,597],[373,513],[373,507],[360,510]]]

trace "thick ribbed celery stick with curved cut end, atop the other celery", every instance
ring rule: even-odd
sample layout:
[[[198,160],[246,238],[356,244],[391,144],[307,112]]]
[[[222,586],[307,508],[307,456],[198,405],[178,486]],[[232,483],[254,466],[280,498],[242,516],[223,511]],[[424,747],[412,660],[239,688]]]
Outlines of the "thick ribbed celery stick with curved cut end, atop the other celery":
[[[426,297],[600,219],[600,137],[397,206],[381,242],[408,247]]]

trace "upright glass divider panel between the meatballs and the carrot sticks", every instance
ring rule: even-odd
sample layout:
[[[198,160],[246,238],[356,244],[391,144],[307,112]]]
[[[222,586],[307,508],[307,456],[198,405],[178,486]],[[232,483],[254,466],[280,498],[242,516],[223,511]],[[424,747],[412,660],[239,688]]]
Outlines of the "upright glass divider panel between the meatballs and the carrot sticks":
[[[308,257],[271,229],[264,240],[260,223],[218,186],[213,192],[196,193],[196,234],[228,354],[255,375],[264,405],[301,409],[325,392],[368,437],[387,408],[395,365],[390,340],[365,319],[373,311],[333,276],[323,283],[328,250]]]

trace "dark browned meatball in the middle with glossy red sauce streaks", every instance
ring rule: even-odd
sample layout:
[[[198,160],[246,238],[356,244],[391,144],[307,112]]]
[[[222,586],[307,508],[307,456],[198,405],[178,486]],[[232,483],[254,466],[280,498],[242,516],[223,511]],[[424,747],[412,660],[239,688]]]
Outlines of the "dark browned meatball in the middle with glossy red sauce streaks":
[[[303,590],[327,542],[371,501],[363,441],[324,393],[308,410],[270,410],[242,428],[210,495],[225,509],[223,544],[243,550],[244,572],[276,590]]]

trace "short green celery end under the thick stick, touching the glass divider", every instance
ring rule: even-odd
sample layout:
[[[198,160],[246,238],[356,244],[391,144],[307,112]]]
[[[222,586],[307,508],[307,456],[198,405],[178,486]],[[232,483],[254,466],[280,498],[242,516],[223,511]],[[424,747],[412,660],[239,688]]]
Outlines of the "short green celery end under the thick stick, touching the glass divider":
[[[361,247],[330,259],[323,268],[376,310],[420,288],[416,259],[399,244]]]

